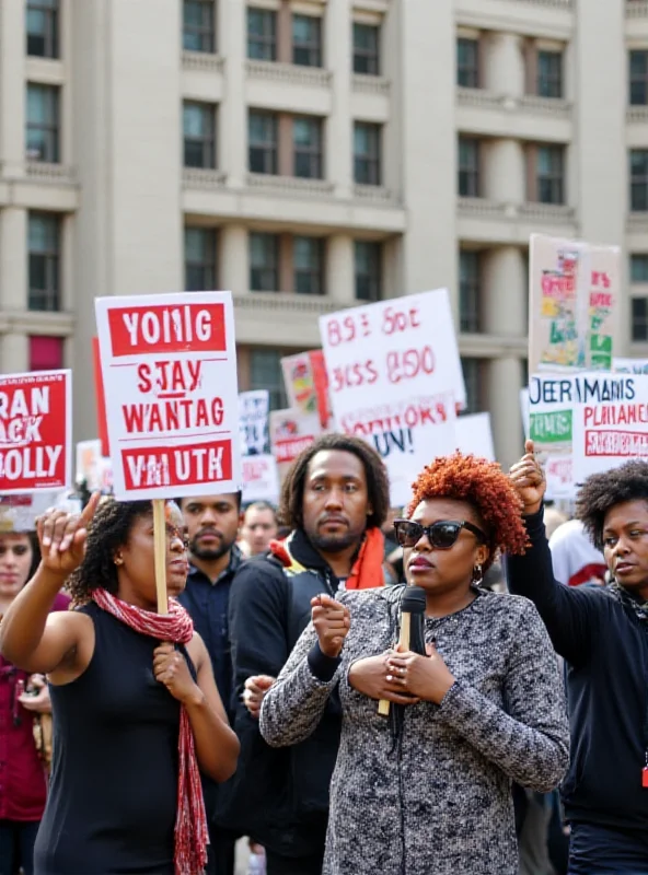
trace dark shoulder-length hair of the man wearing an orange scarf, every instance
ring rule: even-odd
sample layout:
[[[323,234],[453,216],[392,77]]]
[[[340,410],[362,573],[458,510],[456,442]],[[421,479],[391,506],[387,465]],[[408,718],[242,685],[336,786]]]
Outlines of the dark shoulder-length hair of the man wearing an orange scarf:
[[[290,528],[303,526],[303,493],[309,465],[317,453],[338,451],[359,458],[367,478],[367,492],[372,513],[367,517],[367,527],[380,527],[390,510],[390,481],[382,459],[368,443],[351,434],[324,434],[306,447],[293,462],[281,487],[279,518]]]

